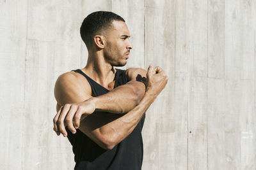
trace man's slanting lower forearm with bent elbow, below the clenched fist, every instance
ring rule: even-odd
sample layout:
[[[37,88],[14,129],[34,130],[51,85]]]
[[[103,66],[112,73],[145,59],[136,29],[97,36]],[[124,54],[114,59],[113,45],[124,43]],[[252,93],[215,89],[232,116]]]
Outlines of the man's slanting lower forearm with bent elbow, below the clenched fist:
[[[122,117],[109,121],[108,124],[102,125],[97,129],[95,129],[95,124],[92,123],[94,122],[93,118],[85,118],[81,122],[79,129],[102,148],[111,149],[131,134],[138,122],[140,122],[141,117],[145,114],[145,111],[147,111],[155,99],[156,96],[146,93],[140,104]],[[95,121],[96,119],[99,120],[99,118],[94,119]]]

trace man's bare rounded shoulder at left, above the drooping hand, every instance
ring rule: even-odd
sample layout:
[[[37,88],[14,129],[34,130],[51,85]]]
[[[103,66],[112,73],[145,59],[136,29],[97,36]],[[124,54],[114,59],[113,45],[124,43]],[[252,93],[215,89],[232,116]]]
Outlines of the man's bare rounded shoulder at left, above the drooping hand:
[[[83,75],[69,71],[61,74],[54,86],[54,96],[61,106],[65,103],[79,103],[92,95],[90,84]]]

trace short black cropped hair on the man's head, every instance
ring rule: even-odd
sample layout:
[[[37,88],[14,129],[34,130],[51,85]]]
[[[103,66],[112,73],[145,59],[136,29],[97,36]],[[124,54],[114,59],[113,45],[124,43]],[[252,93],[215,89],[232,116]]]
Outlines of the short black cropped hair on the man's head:
[[[111,27],[113,20],[125,22],[124,18],[111,11],[95,11],[84,18],[80,34],[87,48],[92,45],[93,38],[99,31]]]

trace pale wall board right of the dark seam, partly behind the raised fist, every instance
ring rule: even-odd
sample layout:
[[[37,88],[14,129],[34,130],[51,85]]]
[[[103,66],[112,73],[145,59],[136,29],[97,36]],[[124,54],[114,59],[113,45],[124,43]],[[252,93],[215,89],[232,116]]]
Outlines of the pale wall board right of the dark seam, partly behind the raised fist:
[[[162,48],[159,48],[158,13],[157,8],[145,8],[145,66],[159,65]],[[157,99],[147,110],[143,127],[144,157],[143,169],[159,169],[159,100]],[[150,135],[148,135],[150,134]]]

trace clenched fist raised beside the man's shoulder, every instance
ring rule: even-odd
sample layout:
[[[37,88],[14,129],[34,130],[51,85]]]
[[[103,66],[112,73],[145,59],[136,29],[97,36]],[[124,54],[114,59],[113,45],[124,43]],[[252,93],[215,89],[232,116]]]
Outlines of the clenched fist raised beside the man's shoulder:
[[[157,96],[164,89],[167,81],[168,77],[161,67],[157,66],[153,69],[150,65],[147,71],[146,92]]]

